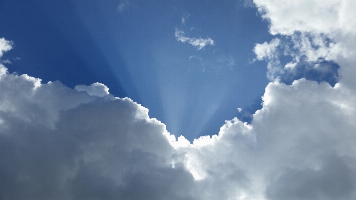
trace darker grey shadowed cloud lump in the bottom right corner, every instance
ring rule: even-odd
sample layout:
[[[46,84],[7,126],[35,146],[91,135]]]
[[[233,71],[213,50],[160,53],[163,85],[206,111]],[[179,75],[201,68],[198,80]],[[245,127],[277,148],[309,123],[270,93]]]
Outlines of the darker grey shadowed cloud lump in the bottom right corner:
[[[284,168],[270,176],[270,199],[353,199],[356,171],[348,158],[329,156],[320,169]]]

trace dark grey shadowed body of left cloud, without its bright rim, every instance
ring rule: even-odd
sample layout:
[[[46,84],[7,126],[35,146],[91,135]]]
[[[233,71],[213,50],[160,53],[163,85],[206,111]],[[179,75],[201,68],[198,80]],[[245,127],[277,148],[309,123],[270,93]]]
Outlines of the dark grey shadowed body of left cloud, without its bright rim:
[[[54,129],[1,112],[2,199],[193,199],[172,147],[123,100],[63,111]],[[19,192],[21,191],[21,192]]]

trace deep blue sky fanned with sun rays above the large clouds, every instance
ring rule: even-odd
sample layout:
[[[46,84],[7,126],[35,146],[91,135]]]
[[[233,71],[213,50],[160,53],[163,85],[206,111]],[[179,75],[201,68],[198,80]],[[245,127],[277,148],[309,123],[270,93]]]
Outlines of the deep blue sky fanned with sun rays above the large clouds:
[[[272,37],[243,2],[2,1],[1,17],[2,37],[15,42],[10,72],[71,88],[103,83],[176,136],[216,134],[261,108],[268,80],[252,50]],[[179,42],[176,30],[214,45]]]

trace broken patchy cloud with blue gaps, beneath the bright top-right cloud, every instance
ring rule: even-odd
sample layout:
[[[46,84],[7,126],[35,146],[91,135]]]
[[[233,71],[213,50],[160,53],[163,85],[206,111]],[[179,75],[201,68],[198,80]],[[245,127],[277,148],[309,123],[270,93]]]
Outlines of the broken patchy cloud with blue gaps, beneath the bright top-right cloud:
[[[332,63],[340,53],[340,44],[336,44],[324,35],[296,32],[292,36],[281,39],[275,38],[269,43],[256,44],[254,53],[256,60],[267,61],[267,77],[275,79],[297,79],[317,77],[298,77],[300,74],[318,74],[318,77],[332,74],[333,81],[338,78],[337,69],[333,69]],[[280,56],[290,57],[290,61],[284,66],[280,62]],[[329,63],[329,65],[326,65]],[[330,80],[324,80],[330,83]]]

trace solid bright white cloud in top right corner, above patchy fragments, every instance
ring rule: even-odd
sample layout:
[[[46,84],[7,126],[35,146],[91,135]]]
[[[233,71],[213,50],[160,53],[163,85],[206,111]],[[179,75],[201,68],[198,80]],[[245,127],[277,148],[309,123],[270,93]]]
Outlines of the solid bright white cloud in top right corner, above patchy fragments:
[[[292,35],[295,31],[334,35],[356,32],[349,14],[354,1],[263,1],[254,0],[262,17],[270,22],[272,35]]]

